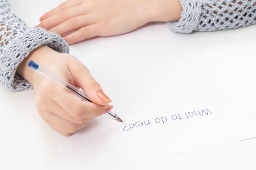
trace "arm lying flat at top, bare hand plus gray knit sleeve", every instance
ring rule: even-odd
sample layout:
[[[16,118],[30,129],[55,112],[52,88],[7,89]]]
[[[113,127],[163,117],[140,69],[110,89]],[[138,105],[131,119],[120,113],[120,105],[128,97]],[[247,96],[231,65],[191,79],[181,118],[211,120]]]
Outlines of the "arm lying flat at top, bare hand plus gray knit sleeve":
[[[175,32],[235,29],[256,23],[256,0],[67,0],[40,18],[73,44],[127,33],[154,21]]]

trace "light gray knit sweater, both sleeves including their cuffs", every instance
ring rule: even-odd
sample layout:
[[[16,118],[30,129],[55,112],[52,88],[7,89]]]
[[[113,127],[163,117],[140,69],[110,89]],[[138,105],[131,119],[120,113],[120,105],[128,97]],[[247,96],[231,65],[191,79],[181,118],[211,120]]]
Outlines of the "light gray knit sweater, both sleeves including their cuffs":
[[[236,29],[256,23],[256,0],[180,0],[178,22],[167,22],[175,32]],[[16,74],[16,69],[31,51],[41,45],[68,53],[67,43],[45,29],[31,29],[14,15],[7,0],[0,0],[0,83],[12,91],[32,88]]]

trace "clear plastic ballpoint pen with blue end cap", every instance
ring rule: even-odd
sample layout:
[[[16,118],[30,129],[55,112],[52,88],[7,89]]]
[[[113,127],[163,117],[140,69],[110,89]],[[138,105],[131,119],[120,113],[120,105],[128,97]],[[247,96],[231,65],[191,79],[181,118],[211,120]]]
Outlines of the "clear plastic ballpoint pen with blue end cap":
[[[61,79],[60,77],[58,77],[54,73],[50,72],[49,70],[47,70],[43,66],[40,66],[39,64],[37,64],[33,60],[29,61],[28,66],[29,66],[29,68],[36,71],[40,75],[43,75],[45,78],[49,79],[50,81],[54,82],[55,84],[57,84],[57,85],[59,85],[63,88],[69,89],[74,94],[79,96],[83,101],[92,102],[89,99],[89,97],[87,95],[85,95],[85,93],[83,93],[82,91],[80,91],[79,89],[74,87],[72,84],[69,84],[68,82],[65,82],[63,79]],[[124,123],[124,121],[122,121],[122,119],[113,112],[108,112],[105,115],[107,115],[108,117],[110,117],[113,120],[120,121],[120,122]]]

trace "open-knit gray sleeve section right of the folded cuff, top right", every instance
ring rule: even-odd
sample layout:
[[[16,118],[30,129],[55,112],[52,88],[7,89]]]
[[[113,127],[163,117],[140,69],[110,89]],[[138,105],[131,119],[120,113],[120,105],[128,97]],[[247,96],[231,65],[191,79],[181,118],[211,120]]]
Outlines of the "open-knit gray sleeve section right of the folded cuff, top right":
[[[195,31],[236,29],[256,23],[256,0],[207,0]]]

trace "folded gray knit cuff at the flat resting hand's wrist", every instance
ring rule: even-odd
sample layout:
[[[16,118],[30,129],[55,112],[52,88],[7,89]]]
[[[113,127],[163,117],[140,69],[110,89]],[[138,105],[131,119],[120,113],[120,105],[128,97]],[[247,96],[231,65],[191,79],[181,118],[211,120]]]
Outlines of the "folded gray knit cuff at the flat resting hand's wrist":
[[[203,3],[201,0],[180,0],[180,4],[183,8],[180,20],[166,24],[171,31],[191,33],[198,25]]]

